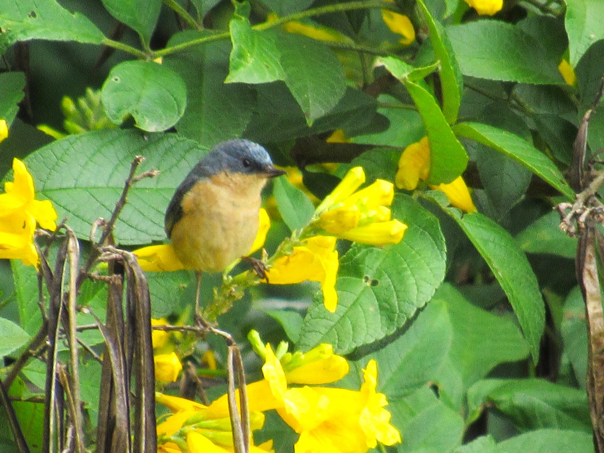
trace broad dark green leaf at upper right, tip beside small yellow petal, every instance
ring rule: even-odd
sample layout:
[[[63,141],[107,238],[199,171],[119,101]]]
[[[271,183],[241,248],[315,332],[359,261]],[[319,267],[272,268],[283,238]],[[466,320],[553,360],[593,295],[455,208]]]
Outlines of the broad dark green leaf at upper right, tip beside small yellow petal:
[[[446,28],[466,76],[536,85],[562,85],[559,61],[521,28],[500,21],[472,21]]]

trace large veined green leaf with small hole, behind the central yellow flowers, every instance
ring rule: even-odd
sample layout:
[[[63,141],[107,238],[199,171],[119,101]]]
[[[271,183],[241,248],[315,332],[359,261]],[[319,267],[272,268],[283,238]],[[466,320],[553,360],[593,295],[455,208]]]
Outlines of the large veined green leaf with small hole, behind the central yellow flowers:
[[[331,343],[338,353],[383,338],[413,318],[445,277],[438,220],[409,196],[396,194],[393,218],[409,226],[402,242],[383,248],[353,244],[341,258],[338,308],[309,307],[298,346]]]

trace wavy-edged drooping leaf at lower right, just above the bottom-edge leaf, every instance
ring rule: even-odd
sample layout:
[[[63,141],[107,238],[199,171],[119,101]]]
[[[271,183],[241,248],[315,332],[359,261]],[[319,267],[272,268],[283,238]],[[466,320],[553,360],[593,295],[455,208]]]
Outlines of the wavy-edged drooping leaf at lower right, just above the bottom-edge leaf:
[[[470,410],[489,404],[521,431],[537,428],[591,431],[585,391],[544,379],[487,379],[467,392]]]

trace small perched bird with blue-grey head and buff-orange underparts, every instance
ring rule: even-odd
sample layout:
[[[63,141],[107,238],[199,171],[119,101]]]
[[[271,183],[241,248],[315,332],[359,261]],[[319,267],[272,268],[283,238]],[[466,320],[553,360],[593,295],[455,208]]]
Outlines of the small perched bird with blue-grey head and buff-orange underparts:
[[[286,172],[261,145],[245,139],[219,143],[175,190],[164,228],[176,257],[196,273],[196,320],[203,272],[223,272],[249,253],[259,228],[262,189]]]

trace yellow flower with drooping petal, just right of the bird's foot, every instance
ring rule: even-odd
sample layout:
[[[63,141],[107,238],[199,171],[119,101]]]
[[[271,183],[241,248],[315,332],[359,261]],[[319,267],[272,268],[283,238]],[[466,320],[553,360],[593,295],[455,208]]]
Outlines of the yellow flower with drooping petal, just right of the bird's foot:
[[[323,291],[323,304],[327,310],[335,312],[338,304],[335,284],[339,266],[335,245],[335,237],[314,236],[306,239],[303,245],[294,247],[291,255],[284,255],[275,260],[266,272],[267,283],[319,281]]]

